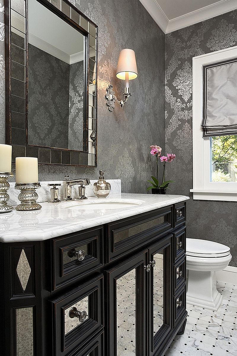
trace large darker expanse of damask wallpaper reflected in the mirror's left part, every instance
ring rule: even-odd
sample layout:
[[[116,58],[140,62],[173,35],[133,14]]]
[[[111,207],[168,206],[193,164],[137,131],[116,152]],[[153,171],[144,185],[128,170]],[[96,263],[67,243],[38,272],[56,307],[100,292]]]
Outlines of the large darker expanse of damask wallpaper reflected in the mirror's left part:
[[[68,148],[70,65],[28,45],[28,142]]]

